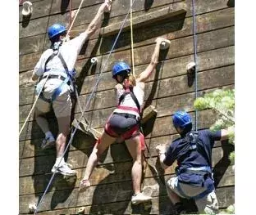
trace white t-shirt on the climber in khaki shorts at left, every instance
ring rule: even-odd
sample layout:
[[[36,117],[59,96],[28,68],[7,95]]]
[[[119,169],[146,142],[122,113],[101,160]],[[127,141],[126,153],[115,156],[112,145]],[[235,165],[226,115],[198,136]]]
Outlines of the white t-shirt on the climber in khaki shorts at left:
[[[80,53],[80,50],[85,43],[85,40],[88,38],[88,34],[82,33],[78,37],[71,39],[70,41],[67,41],[62,44],[62,46],[59,48],[59,52],[62,54],[63,59],[66,62],[66,66],[69,71],[72,71],[75,67],[75,61],[77,59],[77,56]],[[42,56],[40,57],[39,61],[34,67],[34,74],[37,76],[42,75],[62,75],[66,78],[66,70],[64,69],[62,65],[62,61],[58,56],[54,56],[52,60],[48,61],[48,64],[46,65],[46,72],[44,72],[45,68],[45,62],[48,59],[49,56],[53,54],[53,49],[48,49],[45,52],[43,52]],[[39,90],[43,86],[45,79],[42,79],[37,87],[36,91],[39,93]],[[48,79],[47,83],[44,85],[44,91],[47,92],[53,92],[57,87],[59,87],[62,84],[62,80],[58,78],[50,78]],[[70,90],[70,87],[66,84],[62,87],[62,92],[60,95],[62,95],[64,92]]]

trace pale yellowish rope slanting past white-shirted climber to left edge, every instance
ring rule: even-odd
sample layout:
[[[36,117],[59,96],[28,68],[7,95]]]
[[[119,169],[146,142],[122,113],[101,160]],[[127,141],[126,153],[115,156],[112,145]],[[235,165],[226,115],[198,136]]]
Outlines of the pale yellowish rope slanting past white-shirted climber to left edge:
[[[63,43],[66,42],[66,39],[67,39],[68,35],[70,34],[71,28],[72,28],[72,26],[74,25],[76,16],[78,15],[78,13],[79,13],[79,11],[80,11],[80,8],[82,7],[82,4],[83,4],[84,1],[85,1],[85,0],[82,0],[82,1],[80,2],[80,6],[79,6],[79,8],[77,9],[77,11],[76,11],[76,13],[75,13],[75,17],[74,17],[73,21],[71,22],[71,25],[69,26],[69,29],[67,30],[66,37],[64,38]],[[71,2],[72,2],[72,1],[71,1]],[[70,7],[70,14],[71,14],[71,7]],[[25,119],[25,122],[23,123],[23,125],[22,125],[22,127],[21,127],[21,130],[20,130],[20,132],[19,132],[19,137],[20,137],[20,135],[21,135],[21,132],[22,132],[23,129],[25,128],[25,124],[26,124],[26,123],[28,122],[28,120],[30,119],[30,115],[32,114],[32,112],[33,112],[33,110],[34,110],[34,107],[35,107],[35,105],[36,105],[36,102],[39,100],[39,95],[40,95],[40,93],[41,93],[42,90],[43,90],[44,84],[45,84],[46,81],[48,80],[48,76],[49,76],[49,74],[46,76],[45,82],[43,83],[43,86],[42,86],[41,89],[39,90],[39,94],[38,94],[38,96],[36,97],[36,99],[35,99],[35,101],[34,101],[34,104],[32,105],[32,108],[31,108],[31,110],[30,110],[30,113],[28,114],[27,118]]]

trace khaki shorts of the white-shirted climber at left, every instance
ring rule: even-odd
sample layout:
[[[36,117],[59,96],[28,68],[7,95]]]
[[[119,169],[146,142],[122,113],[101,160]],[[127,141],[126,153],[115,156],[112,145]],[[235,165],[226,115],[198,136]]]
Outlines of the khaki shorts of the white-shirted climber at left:
[[[48,113],[51,110],[51,104],[39,98],[36,108],[42,113]],[[71,116],[72,101],[70,92],[65,92],[53,101],[53,110],[56,118]]]

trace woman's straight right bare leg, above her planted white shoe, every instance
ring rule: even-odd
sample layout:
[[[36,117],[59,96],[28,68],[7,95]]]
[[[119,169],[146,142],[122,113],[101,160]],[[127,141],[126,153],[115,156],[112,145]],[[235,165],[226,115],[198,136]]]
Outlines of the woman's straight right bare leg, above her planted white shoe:
[[[126,146],[134,162],[131,168],[131,177],[133,190],[135,195],[137,195],[138,193],[140,193],[140,184],[142,177],[142,155],[139,136],[134,137],[130,140],[126,140]]]

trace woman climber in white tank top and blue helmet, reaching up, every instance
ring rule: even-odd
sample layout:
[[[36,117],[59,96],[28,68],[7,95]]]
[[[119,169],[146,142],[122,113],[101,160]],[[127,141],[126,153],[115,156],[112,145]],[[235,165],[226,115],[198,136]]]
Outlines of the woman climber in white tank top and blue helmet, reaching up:
[[[117,92],[117,109],[107,120],[103,135],[94,146],[92,154],[89,156],[85,169],[85,177],[80,181],[80,191],[86,190],[90,186],[89,177],[98,163],[98,156],[102,155],[117,138],[126,142],[126,146],[133,159],[131,177],[133,181],[134,195],[131,197],[132,204],[150,201],[150,196],[141,193],[142,177],[142,150],[144,150],[144,136],[139,132],[139,120],[141,106],[144,101],[145,81],[158,64],[160,45],[166,39],[157,38],[156,47],[148,67],[135,78],[130,73],[130,66],[125,62],[119,61],[112,68],[112,78],[117,80],[115,87]]]

